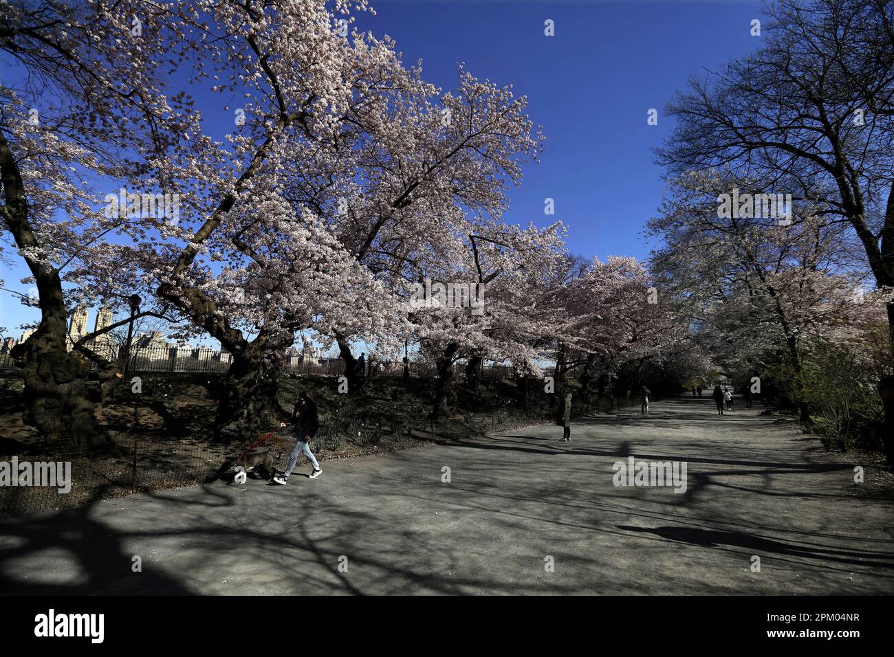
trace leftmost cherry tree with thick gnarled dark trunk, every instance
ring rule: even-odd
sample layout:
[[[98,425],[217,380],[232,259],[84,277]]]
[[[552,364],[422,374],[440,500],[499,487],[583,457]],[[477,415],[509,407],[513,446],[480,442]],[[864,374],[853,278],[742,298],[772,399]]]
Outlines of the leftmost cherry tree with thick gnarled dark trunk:
[[[63,282],[117,219],[98,213],[97,177],[138,172],[131,149],[152,152],[188,128],[159,91],[165,49],[143,21],[164,7],[11,2],[0,6],[0,48],[14,64],[0,86],[3,239],[30,270],[41,319],[13,358],[25,376],[26,423],[47,439],[106,442],[85,388],[83,353],[66,350]],[[142,16],[143,21],[137,19]]]

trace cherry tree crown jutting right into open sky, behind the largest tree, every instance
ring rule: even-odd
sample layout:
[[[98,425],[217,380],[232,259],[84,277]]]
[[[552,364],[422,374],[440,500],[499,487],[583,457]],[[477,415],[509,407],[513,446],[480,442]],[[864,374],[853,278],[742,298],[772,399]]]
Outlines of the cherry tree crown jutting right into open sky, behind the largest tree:
[[[367,119],[368,129],[377,126],[381,134],[359,154],[365,184],[355,177],[348,196],[333,199],[345,208],[335,228],[339,239],[398,291],[426,275],[446,280],[438,274],[444,265],[468,257],[468,240],[482,236],[468,237],[477,227],[467,215],[499,221],[507,183],[520,180],[519,164],[536,157],[539,139],[531,135],[525,99],[510,88],[461,67],[454,92],[426,85],[417,70],[408,81],[405,88],[392,85],[396,92]],[[350,346],[344,335],[336,337],[353,373]]]

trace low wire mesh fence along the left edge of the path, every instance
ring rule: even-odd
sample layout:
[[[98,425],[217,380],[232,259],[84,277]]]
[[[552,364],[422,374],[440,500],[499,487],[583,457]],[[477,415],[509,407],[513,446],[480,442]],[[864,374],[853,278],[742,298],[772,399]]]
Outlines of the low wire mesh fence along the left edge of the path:
[[[574,415],[611,412],[629,403],[619,397],[606,398],[593,404],[576,404]],[[313,450],[317,459],[325,460],[342,458],[346,448],[354,453],[357,452],[354,446],[377,446],[381,449],[398,439],[405,443],[408,440],[452,442],[458,435],[474,437],[524,425],[552,424],[555,409],[544,404],[532,405],[527,409],[490,409],[483,413],[457,409],[453,422],[448,425],[435,425],[422,415],[397,420],[368,414],[360,416],[342,410],[334,410],[321,419]],[[19,463],[29,462],[32,467],[40,462],[67,463],[67,467],[71,468],[71,488],[60,493],[55,486],[0,486],[0,518],[61,510],[131,493],[211,483],[219,479],[231,482],[233,467],[223,471],[221,468],[233,456],[248,451],[254,442],[253,439],[249,442],[215,443],[208,435],[173,438],[163,433],[139,437],[119,435],[114,450],[90,454],[60,445],[31,445],[25,453],[0,455],[0,460],[11,463],[17,459]],[[255,451],[268,451],[274,469],[283,470],[293,444],[294,435],[290,428],[285,428],[269,435]],[[263,475],[263,472],[258,472],[251,476],[257,478]]]

